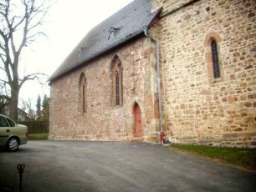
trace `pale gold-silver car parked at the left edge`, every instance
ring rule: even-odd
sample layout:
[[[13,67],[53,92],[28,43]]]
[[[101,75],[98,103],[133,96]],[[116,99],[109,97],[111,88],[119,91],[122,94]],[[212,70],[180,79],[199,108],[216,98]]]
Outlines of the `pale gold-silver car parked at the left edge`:
[[[28,142],[28,127],[16,124],[12,119],[0,114],[0,147],[16,151],[20,144]]]

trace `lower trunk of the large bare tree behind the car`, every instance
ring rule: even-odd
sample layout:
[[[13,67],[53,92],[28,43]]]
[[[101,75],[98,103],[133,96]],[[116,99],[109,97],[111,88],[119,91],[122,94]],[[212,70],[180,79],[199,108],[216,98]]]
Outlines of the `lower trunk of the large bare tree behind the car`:
[[[14,121],[18,121],[18,85],[14,85],[11,88],[11,100],[10,100],[10,116]]]

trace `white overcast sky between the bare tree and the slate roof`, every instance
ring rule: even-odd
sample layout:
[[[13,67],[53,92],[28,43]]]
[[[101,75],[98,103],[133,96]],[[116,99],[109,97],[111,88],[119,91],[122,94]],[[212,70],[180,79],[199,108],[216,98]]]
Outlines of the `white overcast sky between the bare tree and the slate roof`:
[[[32,48],[28,48],[22,55],[23,73],[40,72],[50,76],[91,28],[131,2],[57,0],[49,10],[48,23],[44,25],[48,37],[38,38]],[[23,100],[30,99],[34,107],[38,94],[43,98],[44,94],[49,95],[49,89],[48,85],[42,86],[36,81],[30,81],[23,85],[19,96]]]

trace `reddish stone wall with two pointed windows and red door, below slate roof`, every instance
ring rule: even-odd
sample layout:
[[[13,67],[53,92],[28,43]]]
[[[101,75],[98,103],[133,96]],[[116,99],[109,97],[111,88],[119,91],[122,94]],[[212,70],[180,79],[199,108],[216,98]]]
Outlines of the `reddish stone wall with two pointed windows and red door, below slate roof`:
[[[111,106],[110,63],[117,55],[123,68],[123,104]],[[131,140],[134,104],[141,108],[145,140],[158,138],[154,44],[138,38],[51,84],[49,139]],[[86,113],[79,110],[79,77],[87,83]]]

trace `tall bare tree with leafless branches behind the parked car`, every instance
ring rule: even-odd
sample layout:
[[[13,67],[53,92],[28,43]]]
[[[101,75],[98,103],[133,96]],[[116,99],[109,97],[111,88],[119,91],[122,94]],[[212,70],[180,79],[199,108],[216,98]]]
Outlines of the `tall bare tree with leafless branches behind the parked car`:
[[[44,35],[42,25],[49,10],[47,0],[1,0],[0,2],[0,81],[10,89],[10,112],[18,119],[18,95],[23,83],[38,79],[43,73],[20,77],[19,61],[23,48],[30,47]],[[16,4],[13,4],[13,3]]]

